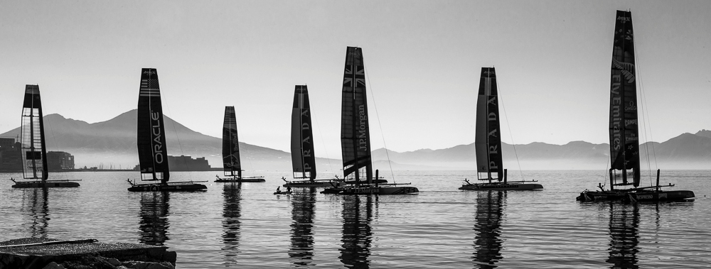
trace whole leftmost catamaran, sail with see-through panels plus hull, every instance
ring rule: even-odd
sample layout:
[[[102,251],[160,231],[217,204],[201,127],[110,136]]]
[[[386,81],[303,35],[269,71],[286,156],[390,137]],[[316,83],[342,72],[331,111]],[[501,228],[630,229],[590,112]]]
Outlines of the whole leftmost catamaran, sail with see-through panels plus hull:
[[[45,145],[42,101],[38,85],[25,85],[21,126],[22,175],[25,180],[15,182],[14,188],[79,187],[69,180],[48,180],[47,147]]]

